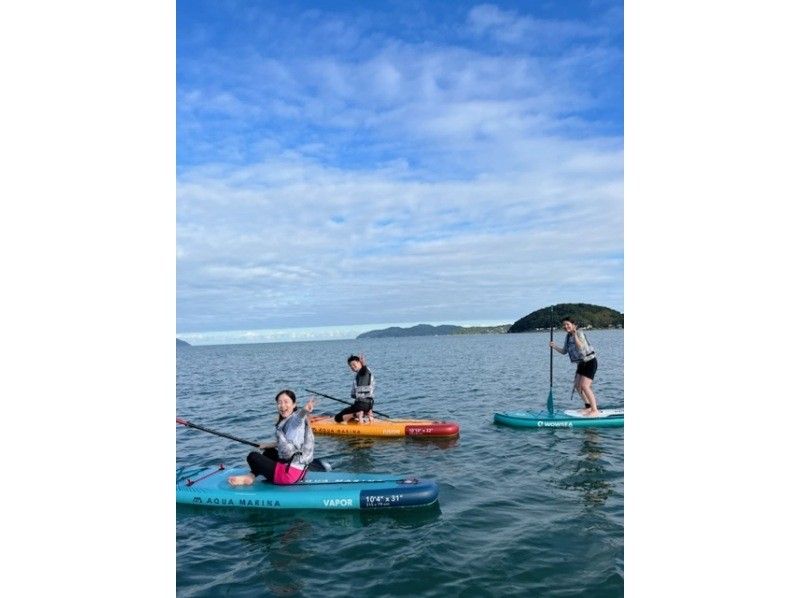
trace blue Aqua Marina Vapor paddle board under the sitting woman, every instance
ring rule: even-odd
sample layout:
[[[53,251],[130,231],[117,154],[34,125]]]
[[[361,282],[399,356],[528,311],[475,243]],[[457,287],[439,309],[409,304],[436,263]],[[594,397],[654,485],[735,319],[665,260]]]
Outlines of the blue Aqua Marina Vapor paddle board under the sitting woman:
[[[303,481],[277,486],[256,478],[252,486],[231,486],[228,477],[246,467],[183,467],[176,471],[179,504],[245,509],[364,510],[423,507],[438,500],[434,480],[386,473],[307,471]]]

